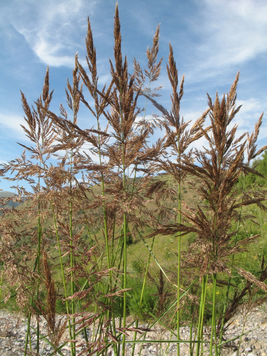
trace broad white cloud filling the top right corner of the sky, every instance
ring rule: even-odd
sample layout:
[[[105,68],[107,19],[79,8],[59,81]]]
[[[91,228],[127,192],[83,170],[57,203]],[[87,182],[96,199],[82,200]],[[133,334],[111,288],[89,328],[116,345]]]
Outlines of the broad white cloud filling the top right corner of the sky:
[[[198,17],[190,22],[198,38],[195,58],[192,58],[195,72],[213,76],[219,68],[267,52],[266,1],[205,0],[203,3]]]

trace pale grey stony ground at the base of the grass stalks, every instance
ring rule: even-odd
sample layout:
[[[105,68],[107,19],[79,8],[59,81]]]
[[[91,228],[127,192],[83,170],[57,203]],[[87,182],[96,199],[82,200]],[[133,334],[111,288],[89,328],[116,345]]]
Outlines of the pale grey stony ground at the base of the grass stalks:
[[[253,312],[246,315],[247,321],[245,326],[245,332],[248,330],[252,330],[250,333],[244,335],[242,337],[242,342],[239,349],[240,356],[267,356],[267,312],[266,306],[258,308]],[[62,318],[62,316],[58,316],[58,318]],[[227,339],[232,339],[242,333],[244,325],[244,316],[242,313],[239,313],[235,316],[233,320],[231,320],[231,324],[226,331]],[[36,322],[33,321],[33,328],[36,327]],[[145,327],[146,325],[142,325]],[[26,339],[26,330],[27,325],[23,322],[23,318],[19,325],[17,325],[17,318],[14,315],[11,315],[4,310],[0,310],[0,355],[2,356],[20,356],[23,354],[23,349],[25,345]],[[40,331],[41,333],[45,333],[46,331],[46,321],[41,320],[40,323]],[[90,330],[89,330],[90,335]],[[129,340],[132,335],[129,336]],[[180,337],[183,340],[189,339],[189,327],[183,327],[180,330]],[[62,340],[67,339],[67,334],[63,335]],[[162,330],[160,328],[155,328],[153,333],[149,333],[147,335],[147,339],[151,340],[155,339],[164,339],[169,340],[170,333],[166,330]],[[84,341],[83,336],[80,334],[77,339]],[[31,335],[31,344],[32,350],[35,351],[36,345],[36,336],[35,333],[32,332]],[[224,356],[236,356],[237,355],[237,346],[239,344],[239,339],[234,340],[228,343],[230,348],[227,348],[223,351]],[[129,348],[129,352],[127,355],[131,355],[131,344],[128,343],[126,346]],[[204,345],[204,350],[208,348],[208,344]],[[44,340],[41,341],[40,346],[40,355],[48,356],[53,355],[52,347]],[[66,343],[64,347],[62,347],[62,354],[64,356],[70,355],[70,344]],[[82,347],[77,348],[76,355],[82,351]],[[136,345],[135,355],[138,355],[140,351],[140,344]],[[37,355],[36,352],[32,352],[31,355]],[[59,355],[59,354],[57,354]],[[156,344],[156,343],[147,343],[145,347],[143,347],[141,351],[141,356],[157,356],[157,355],[168,355],[174,356],[177,355],[177,346],[176,343],[166,343]],[[181,344],[180,346],[180,355],[185,356],[189,355],[189,346],[186,344]]]

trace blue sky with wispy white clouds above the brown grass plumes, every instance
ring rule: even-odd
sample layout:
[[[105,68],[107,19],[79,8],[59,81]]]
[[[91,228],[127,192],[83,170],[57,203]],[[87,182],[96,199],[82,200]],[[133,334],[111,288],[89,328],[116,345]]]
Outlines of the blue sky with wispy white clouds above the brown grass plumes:
[[[78,51],[85,63],[84,39],[89,15],[96,47],[99,83],[109,83],[109,57],[113,56],[114,0],[9,0],[0,3],[0,162],[21,153],[16,141],[27,143],[20,90],[28,103],[40,95],[46,67],[54,89],[51,109],[65,104],[67,77],[72,77]],[[129,68],[135,56],[146,66],[146,48],[152,46],[161,23],[159,57],[164,57],[158,84],[159,102],[170,107],[170,85],[165,63],[172,43],[179,76],[185,74],[181,115],[197,119],[212,97],[227,92],[240,70],[236,116],[240,132],[251,132],[262,111],[267,112],[267,2],[266,0],[119,0],[122,52]],[[155,112],[155,110],[154,110]],[[267,115],[267,114],[266,114]],[[259,145],[267,141],[264,116]],[[80,125],[92,127],[89,113]],[[4,179],[0,188],[10,190]]]

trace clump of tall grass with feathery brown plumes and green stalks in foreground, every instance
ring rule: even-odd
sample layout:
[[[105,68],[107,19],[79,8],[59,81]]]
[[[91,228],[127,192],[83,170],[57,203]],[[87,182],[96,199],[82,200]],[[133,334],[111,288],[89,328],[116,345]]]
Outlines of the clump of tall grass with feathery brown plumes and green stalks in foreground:
[[[236,266],[234,258],[259,237],[237,238],[245,207],[257,205],[266,211],[266,191],[248,190],[245,182],[240,190],[237,184],[244,175],[260,175],[250,163],[267,148],[256,149],[262,116],[250,136],[236,136],[232,120],[240,110],[235,105],[237,74],[229,94],[221,100],[216,94],[214,102],[208,95],[208,110],[195,122],[185,122],[180,116],[184,77],[179,83],[171,45],[167,63],[171,109],[155,99],[160,86],[151,90],[161,72],[159,27],[146,53],[148,67],[142,69],[134,59],[133,74],[122,57],[118,6],[114,39],[110,83],[100,88],[88,19],[87,68],[76,56],[73,83],[67,80],[70,114],[62,104],[59,115],[49,110],[53,92],[48,69],[42,95],[33,106],[21,93],[22,128],[32,146],[21,144],[21,157],[1,169],[4,178],[17,182],[17,200],[23,202],[20,207],[2,209],[0,296],[5,298],[1,305],[15,298],[27,315],[25,355],[34,350],[42,354],[41,338],[52,346],[51,355],[64,355],[67,338],[72,356],[110,352],[133,356],[141,353],[150,340],[147,333],[155,330],[160,330],[158,343],[177,344],[177,355],[181,343],[189,345],[190,355],[205,351],[220,355],[227,322],[244,297],[251,309],[265,300],[257,293],[267,292],[264,256],[259,278]],[[147,119],[147,100],[160,112],[160,120]],[[88,109],[89,127],[95,120],[90,129],[79,125],[80,104]],[[165,134],[149,146],[156,127]],[[194,149],[200,137],[205,138],[206,148]],[[23,181],[30,184],[30,191],[20,185]],[[185,182],[198,194],[197,206],[188,206],[184,200]],[[171,208],[165,205],[166,199],[172,200]],[[176,244],[172,270],[164,268],[153,252],[158,235],[172,236]],[[131,288],[137,277],[128,262],[129,244],[138,241],[147,253],[142,266],[141,260],[135,266],[138,281],[143,278],[140,295]],[[229,294],[234,273],[245,279],[247,287]],[[157,302],[144,305],[150,283]],[[219,286],[224,286],[225,293],[221,315],[216,310]],[[66,323],[56,321],[58,301],[66,309]],[[138,307],[128,321],[131,302]],[[34,331],[33,315],[37,316]],[[40,315],[47,321],[46,332],[39,328]],[[140,320],[147,317],[147,327],[140,327]],[[180,334],[182,320],[190,325],[189,340]],[[166,330],[172,339],[162,340]],[[37,335],[36,346],[32,334]],[[209,344],[207,349],[204,342]],[[139,350],[136,344],[141,345]]]

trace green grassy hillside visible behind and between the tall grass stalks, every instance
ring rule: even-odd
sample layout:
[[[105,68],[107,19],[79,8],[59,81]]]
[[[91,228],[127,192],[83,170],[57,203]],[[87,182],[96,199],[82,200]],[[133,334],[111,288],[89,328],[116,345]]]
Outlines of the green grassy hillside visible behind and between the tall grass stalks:
[[[163,205],[164,207],[169,210],[170,212],[174,212],[173,219],[169,221],[169,223],[176,223],[176,218],[175,214],[178,209],[178,201],[177,201],[177,196],[178,196],[178,187],[176,182],[174,182],[173,178],[169,180],[169,177],[166,175],[159,175],[155,178],[156,180],[159,181],[166,181],[168,183],[168,186],[170,189],[174,191],[174,196],[173,199],[166,198],[164,199]],[[11,192],[1,192],[4,194],[6,197],[12,197],[13,193]],[[91,194],[88,195],[88,201],[85,201],[84,209],[86,210],[87,205],[90,205],[92,203],[93,197],[100,195],[101,194],[101,189],[98,185],[95,185],[91,187]],[[109,195],[107,194],[107,198]],[[195,208],[197,204],[200,204],[200,199],[198,195],[196,194],[195,190],[191,189],[190,184],[188,182],[184,182],[181,185],[181,198],[182,200],[186,201],[187,205],[190,206],[191,208]],[[31,201],[27,201],[26,203],[22,203],[18,207],[18,211],[28,211],[32,210],[31,207],[32,203]],[[150,198],[147,204],[148,210],[155,210],[156,209],[156,202],[155,198]],[[35,210],[37,214],[37,207],[35,207],[33,210]],[[252,272],[256,272],[259,270],[262,262],[262,255],[266,255],[267,253],[267,245],[265,244],[265,239],[264,236],[267,234],[267,228],[266,225],[264,224],[265,221],[265,213],[261,212],[258,210],[257,206],[250,206],[250,208],[247,211],[243,211],[244,214],[250,214],[254,215],[254,221],[256,222],[256,225],[252,223],[249,220],[244,220],[242,224],[240,225],[239,229],[239,237],[238,239],[244,239],[246,237],[250,237],[252,235],[256,234],[261,234],[261,236],[258,237],[258,239],[250,244],[250,248],[247,252],[244,252],[242,255],[238,255],[235,258],[235,263],[237,265],[242,266],[242,268],[246,268]],[[83,222],[83,210],[78,210],[75,213],[73,213],[72,219],[73,219],[73,234],[80,234],[80,238],[85,242],[85,244],[89,244],[92,246],[98,246],[98,248],[104,248],[105,246],[105,237],[104,237],[104,227],[103,225],[95,226],[92,224],[89,224],[89,226],[86,226]],[[6,218],[5,218],[6,219]],[[62,220],[57,222],[59,224],[59,239],[64,240],[64,234],[65,232],[63,231],[64,228],[61,227],[60,224],[64,224],[64,221],[67,221],[69,219],[69,215],[66,212],[66,216],[62,218]],[[27,214],[23,217],[20,218],[20,225],[15,227],[15,231],[18,234],[21,234],[21,231],[23,230],[23,234],[20,235],[20,240],[16,242],[16,246],[18,248],[22,248],[23,246],[26,245],[32,245],[32,244],[37,244],[37,232],[38,232],[38,218],[37,215],[29,216],[27,217]],[[22,229],[23,226],[23,229]],[[50,218],[46,218],[43,221],[43,233],[44,236],[46,236],[47,239],[47,246],[49,244],[49,252],[51,254],[51,259],[50,263],[54,266],[58,265],[59,263],[59,255],[58,255],[58,245],[57,245],[57,239],[56,239],[56,233],[55,233],[55,225],[54,225],[54,220],[52,217],[52,213]],[[158,286],[157,283],[159,282],[159,265],[163,268],[163,270],[166,272],[166,274],[169,276],[170,280],[175,281],[177,278],[177,253],[178,253],[178,237],[177,235],[175,236],[163,236],[161,234],[158,234],[154,241],[153,241],[153,254],[155,255],[155,258],[151,258],[150,252],[148,251],[148,248],[145,246],[144,241],[148,244],[148,246],[151,247],[152,245],[152,239],[147,239],[147,235],[149,235],[153,229],[150,226],[145,226],[144,228],[140,228],[140,234],[144,238],[141,239],[141,237],[136,234],[132,235],[131,234],[131,229],[132,226],[129,226],[129,238],[128,240],[128,245],[127,245],[127,273],[129,273],[129,279],[128,279],[128,286],[129,288],[133,288],[135,290],[135,293],[141,293],[142,289],[142,278],[145,273],[146,265],[148,262],[148,259],[150,258],[150,267],[148,269],[148,274],[149,274],[149,281],[147,282],[147,287],[146,287],[146,301],[144,301],[144,305],[147,307],[152,303],[154,306],[156,305],[155,300],[157,300],[157,297],[155,297],[158,294]],[[116,247],[117,244],[121,244],[119,240],[119,236],[121,234],[121,230],[119,227],[116,227],[114,230],[114,245]],[[188,234],[181,239],[181,253],[186,252],[188,249],[188,244],[189,241],[194,241],[195,237],[194,234]],[[112,242],[110,241],[110,244]],[[101,247],[102,246],[102,247]],[[114,248],[115,248],[114,247]],[[64,252],[64,250],[63,250]],[[22,251],[22,256],[23,256]],[[63,261],[68,263],[69,260],[69,255],[66,255],[63,257]],[[103,260],[103,263],[106,263],[106,260]],[[59,270],[56,272],[54,277],[57,279],[57,283],[60,286],[62,284],[62,277],[61,273]],[[242,283],[241,278],[237,278],[236,281],[238,283]],[[169,282],[167,279],[164,282],[165,284],[169,285]],[[175,282],[173,282],[175,283]],[[61,287],[62,288],[62,287]],[[164,288],[167,288],[164,287]],[[168,287],[169,288],[169,287]],[[154,295],[154,297],[153,297]],[[153,300],[154,302],[153,302]],[[219,296],[218,296],[219,298]],[[130,313],[137,313],[138,306],[136,303],[130,301],[129,302],[129,312]],[[147,304],[146,304],[147,303]],[[218,302],[219,303],[219,302]],[[151,305],[152,305],[151,304]],[[219,305],[219,304],[218,304]],[[60,307],[60,303],[58,304],[58,311],[66,311]]]

